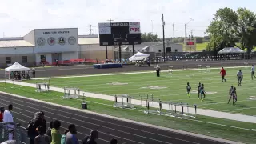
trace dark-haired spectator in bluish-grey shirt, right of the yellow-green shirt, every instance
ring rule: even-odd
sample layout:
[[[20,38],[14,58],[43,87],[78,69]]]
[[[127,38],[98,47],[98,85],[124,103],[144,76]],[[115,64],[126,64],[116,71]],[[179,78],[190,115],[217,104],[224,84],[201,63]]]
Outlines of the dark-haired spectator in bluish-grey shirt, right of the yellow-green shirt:
[[[69,132],[66,133],[66,144],[79,144],[75,134],[77,134],[77,129],[74,124],[70,124]]]

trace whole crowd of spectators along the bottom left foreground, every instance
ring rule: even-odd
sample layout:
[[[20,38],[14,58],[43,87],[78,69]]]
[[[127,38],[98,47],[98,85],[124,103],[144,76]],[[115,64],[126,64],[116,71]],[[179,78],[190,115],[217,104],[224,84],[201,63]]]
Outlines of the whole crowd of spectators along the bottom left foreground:
[[[11,111],[13,105],[9,105],[8,109],[4,107],[0,108],[0,122],[14,122]],[[45,114],[43,111],[36,112],[34,118],[30,120],[28,126],[26,126],[26,135],[30,139],[30,144],[97,144],[98,131],[91,130],[90,135],[86,135],[79,142],[77,138],[77,129],[74,124],[70,124],[63,134],[60,132],[62,123],[59,120],[50,122],[50,126],[47,128]],[[14,125],[8,124],[9,140],[14,138],[13,131]],[[117,144],[116,139],[111,139],[110,144]]]

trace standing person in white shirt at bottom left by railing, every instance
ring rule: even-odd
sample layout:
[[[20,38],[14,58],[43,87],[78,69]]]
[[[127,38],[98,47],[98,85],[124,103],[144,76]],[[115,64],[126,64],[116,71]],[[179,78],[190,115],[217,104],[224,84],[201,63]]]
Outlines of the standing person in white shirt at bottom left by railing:
[[[5,110],[5,112],[3,113],[3,122],[14,122],[14,118],[13,115],[10,113],[10,111],[13,110],[13,105],[10,104],[8,106],[8,110]],[[9,131],[9,140],[13,139],[13,130],[14,130],[14,125],[12,124],[8,124],[8,131]]]

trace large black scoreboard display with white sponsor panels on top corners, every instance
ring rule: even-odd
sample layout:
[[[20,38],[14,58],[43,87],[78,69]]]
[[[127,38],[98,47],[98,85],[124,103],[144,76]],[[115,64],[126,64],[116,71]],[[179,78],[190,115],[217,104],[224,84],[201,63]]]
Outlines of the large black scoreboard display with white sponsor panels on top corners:
[[[140,22],[98,23],[100,46],[141,44]]]

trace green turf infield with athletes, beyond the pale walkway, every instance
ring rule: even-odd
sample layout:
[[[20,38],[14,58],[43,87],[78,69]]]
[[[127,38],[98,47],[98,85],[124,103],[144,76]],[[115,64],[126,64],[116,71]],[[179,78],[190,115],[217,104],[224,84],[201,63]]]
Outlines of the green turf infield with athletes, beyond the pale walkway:
[[[157,78],[155,73],[148,74],[122,74],[79,78],[50,79],[50,86],[74,86],[81,90],[97,94],[129,94],[141,99],[141,96],[153,94],[154,100],[161,99],[169,102],[186,102],[190,105],[198,104],[198,108],[225,111],[236,114],[256,115],[255,83],[250,78],[250,68],[243,68],[245,75],[242,86],[238,86],[236,73],[238,69],[226,69],[226,82],[222,82],[218,70],[174,71],[173,74],[162,72]],[[190,76],[190,74],[194,74]],[[34,80],[30,82],[40,82]],[[114,83],[115,82],[115,83]],[[191,98],[186,95],[186,82],[192,87]],[[205,85],[206,98],[204,102],[198,100],[198,82]],[[235,106],[227,104],[230,86],[237,88],[238,102]],[[195,91],[193,91],[195,90]]]

